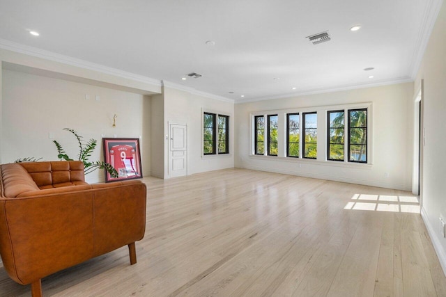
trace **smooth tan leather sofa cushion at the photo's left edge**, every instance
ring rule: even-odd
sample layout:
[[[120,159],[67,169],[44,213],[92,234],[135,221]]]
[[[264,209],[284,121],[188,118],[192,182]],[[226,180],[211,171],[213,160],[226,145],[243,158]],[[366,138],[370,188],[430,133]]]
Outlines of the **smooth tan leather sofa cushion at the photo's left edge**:
[[[21,193],[39,189],[31,175],[17,163],[1,166],[1,184],[3,197],[17,197]]]

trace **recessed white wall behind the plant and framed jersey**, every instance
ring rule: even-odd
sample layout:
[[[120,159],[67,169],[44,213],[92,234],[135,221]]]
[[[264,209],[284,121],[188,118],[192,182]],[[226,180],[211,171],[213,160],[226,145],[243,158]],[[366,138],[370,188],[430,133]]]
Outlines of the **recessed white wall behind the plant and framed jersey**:
[[[57,160],[56,147],[49,134],[54,134],[56,141],[75,159],[79,152],[77,141],[68,131],[62,130],[66,127],[78,131],[86,141],[90,138],[98,141],[91,161],[103,160],[102,134],[105,137],[141,136],[141,144],[145,145],[150,141],[148,128],[144,128],[143,123],[143,113],[150,114],[150,104],[143,104],[143,95],[11,70],[3,70],[2,82],[3,163],[26,156]],[[87,94],[90,95],[88,100]],[[96,95],[100,96],[100,101],[95,100]],[[113,128],[115,113],[118,118]],[[144,175],[151,170],[146,153],[146,147],[141,147]],[[86,179],[88,182],[103,181],[104,172],[98,170]]]

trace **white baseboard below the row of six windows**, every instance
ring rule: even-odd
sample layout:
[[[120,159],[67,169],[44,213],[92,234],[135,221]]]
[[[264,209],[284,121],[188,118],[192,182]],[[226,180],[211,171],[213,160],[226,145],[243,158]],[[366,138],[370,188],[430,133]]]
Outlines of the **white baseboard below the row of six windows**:
[[[311,177],[316,179],[327,179],[332,180],[334,182],[346,182],[348,184],[363,184],[364,186],[377,186],[379,188],[392,188],[395,190],[401,190],[401,191],[411,191],[411,185],[403,185],[403,184],[390,184],[390,183],[384,183],[384,182],[376,182],[368,179],[352,179],[352,178],[346,178],[346,177],[339,177],[339,176],[333,176],[333,175],[324,175],[324,174],[314,174],[314,173],[308,173],[308,172],[296,172],[293,170],[283,170],[283,169],[277,169],[277,168],[269,168],[265,166],[252,166],[248,163],[243,163],[242,168],[251,169],[251,170],[259,170],[259,171],[266,171],[266,172],[275,172],[275,173],[283,173],[285,175],[297,175],[300,177]]]

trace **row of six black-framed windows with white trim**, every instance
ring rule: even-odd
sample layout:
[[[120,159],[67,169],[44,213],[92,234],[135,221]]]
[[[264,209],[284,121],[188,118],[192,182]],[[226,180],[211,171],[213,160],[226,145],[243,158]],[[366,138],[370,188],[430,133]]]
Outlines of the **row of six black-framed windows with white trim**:
[[[371,165],[371,106],[366,102],[256,111],[250,125],[251,154],[261,156],[254,159],[275,158],[291,163]]]

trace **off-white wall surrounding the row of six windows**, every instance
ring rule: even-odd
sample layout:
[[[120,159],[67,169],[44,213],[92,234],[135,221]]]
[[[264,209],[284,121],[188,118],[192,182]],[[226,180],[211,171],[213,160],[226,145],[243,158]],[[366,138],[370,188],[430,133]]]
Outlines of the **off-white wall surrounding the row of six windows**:
[[[318,95],[273,99],[236,104],[236,167],[283,172],[291,175],[367,184],[406,191],[411,187],[413,83],[400,83],[375,88],[362,88]],[[318,130],[318,161],[275,156],[251,156],[250,113],[258,111],[305,109],[371,102],[371,143],[373,164],[339,164],[325,159],[324,131]],[[326,109],[318,109],[318,122]],[[324,113],[322,113],[324,111]],[[370,140],[370,138],[369,138]],[[284,140],[282,140],[284,141]],[[322,144],[322,145],[321,145]],[[386,177],[385,173],[389,176]]]

